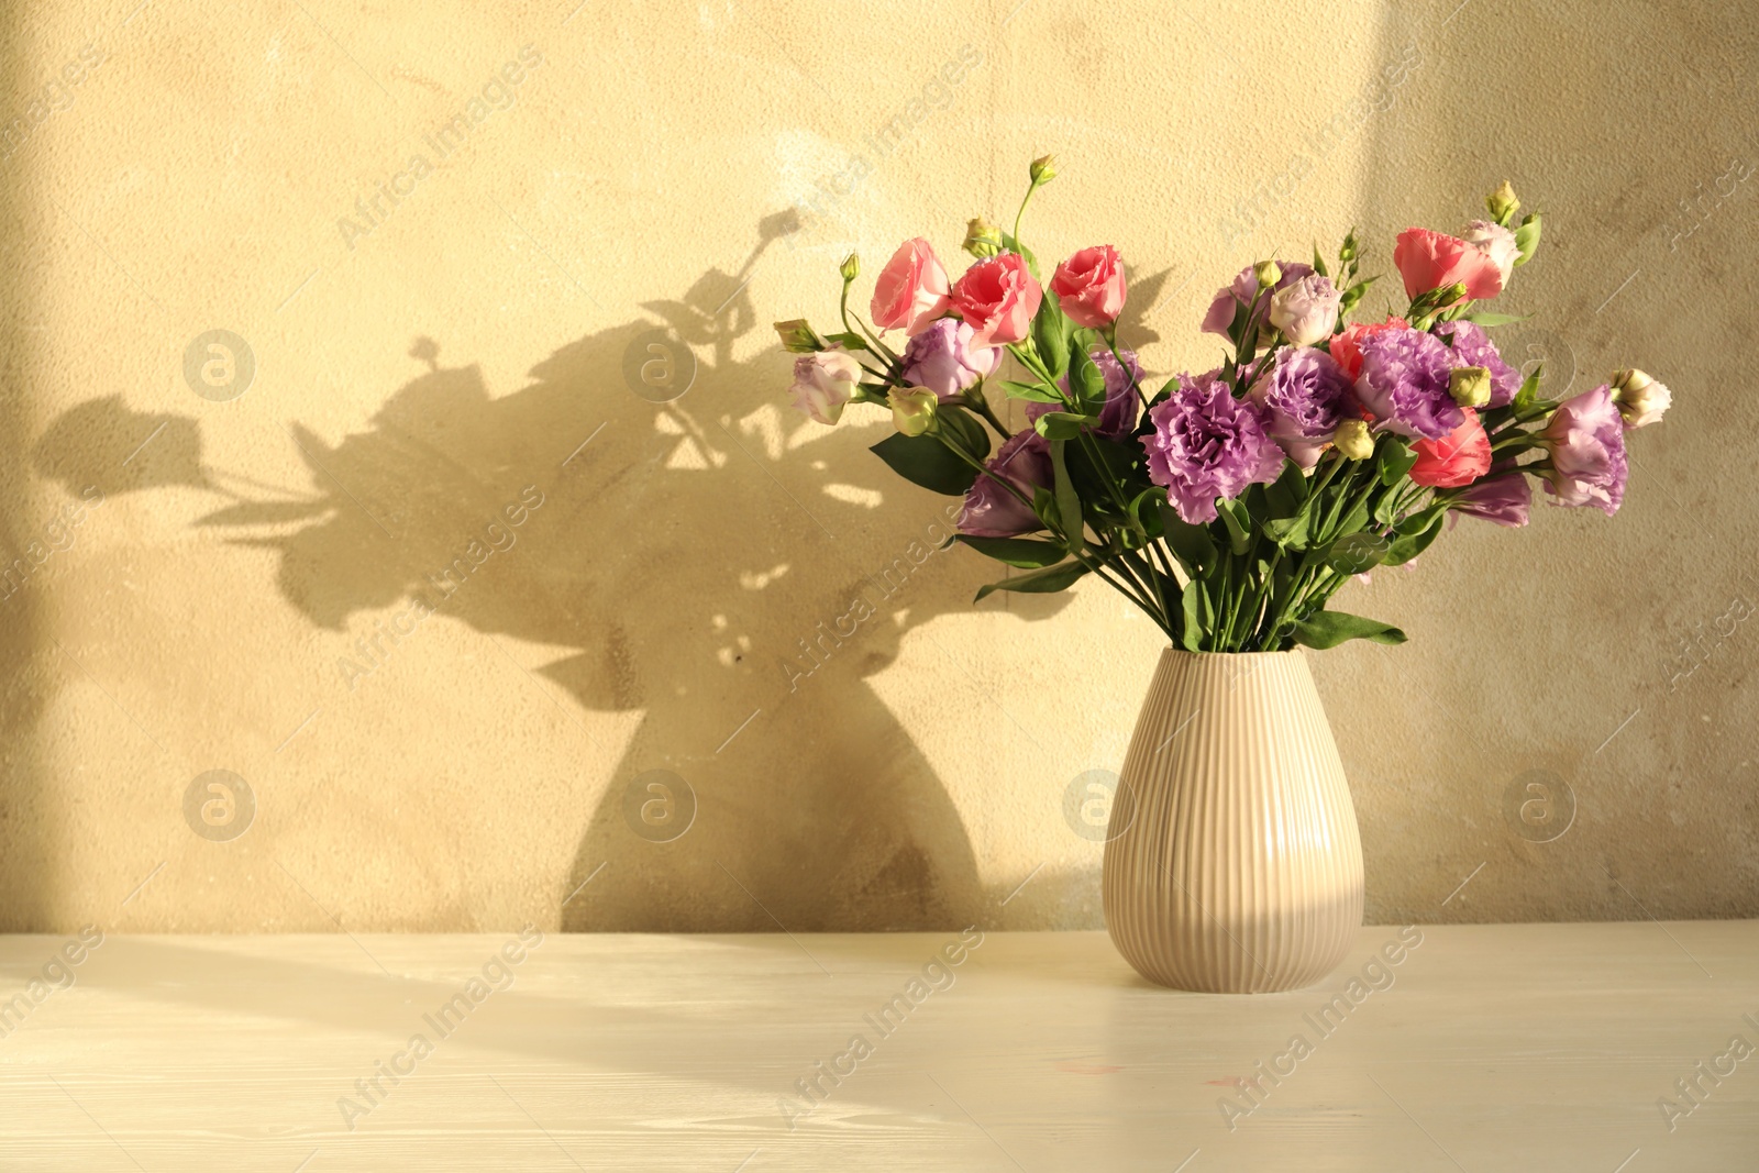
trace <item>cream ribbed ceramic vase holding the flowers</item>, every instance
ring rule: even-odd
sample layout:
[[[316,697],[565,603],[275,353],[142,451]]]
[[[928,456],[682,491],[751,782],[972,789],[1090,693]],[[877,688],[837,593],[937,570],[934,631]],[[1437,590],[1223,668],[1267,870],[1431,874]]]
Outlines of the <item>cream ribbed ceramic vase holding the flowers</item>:
[[[1317,981],[1361,927],[1361,837],[1300,651],[1168,647],[1112,800],[1105,922],[1149,981]]]

